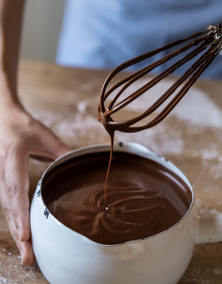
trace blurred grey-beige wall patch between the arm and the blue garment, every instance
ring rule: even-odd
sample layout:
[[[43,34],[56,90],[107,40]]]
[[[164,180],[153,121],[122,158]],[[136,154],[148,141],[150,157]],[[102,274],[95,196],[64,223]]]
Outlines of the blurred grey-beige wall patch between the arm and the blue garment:
[[[55,61],[65,0],[28,0],[23,20],[21,58]]]

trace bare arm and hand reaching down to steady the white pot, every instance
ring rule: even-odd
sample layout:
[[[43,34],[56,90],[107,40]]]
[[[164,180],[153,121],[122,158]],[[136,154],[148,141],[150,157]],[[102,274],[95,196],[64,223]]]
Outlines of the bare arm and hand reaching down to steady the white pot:
[[[26,113],[17,97],[17,62],[24,0],[0,0],[0,202],[26,265],[34,261],[30,242],[30,155],[55,159],[68,149]]]

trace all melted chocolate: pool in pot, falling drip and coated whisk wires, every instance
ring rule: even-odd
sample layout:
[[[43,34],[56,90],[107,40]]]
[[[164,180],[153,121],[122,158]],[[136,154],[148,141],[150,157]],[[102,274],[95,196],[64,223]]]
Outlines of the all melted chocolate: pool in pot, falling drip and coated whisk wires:
[[[113,154],[114,132],[115,130],[136,132],[162,121],[220,52],[222,48],[220,28],[221,26],[218,28],[209,26],[203,32],[133,58],[110,73],[102,88],[97,113],[98,120],[103,123],[110,135],[110,159],[109,153],[95,153],[74,158],[52,169],[42,184],[46,206],[59,221],[97,243],[113,245],[161,233],[183,218],[192,199],[187,185],[167,168],[149,159],[128,153]],[[200,37],[196,38],[197,36]],[[184,47],[129,75],[106,92],[108,84],[118,72],[190,39],[192,41]],[[198,44],[200,44],[199,47],[177,63],[139,90],[129,94],[121,102],[116,103],[119,96],[134,81],[158,65]],[[113,120],[111,115],[116,111],[132,102],[207,47],[209,47],[208,50],[144,113],[125,121]],[[159,115],[145,125],[134,125],[155,111],[189,76],[190,78],[181,90]],[[106,108],[105,100],[120,86],[122,86],[121,90],[117,91]]]

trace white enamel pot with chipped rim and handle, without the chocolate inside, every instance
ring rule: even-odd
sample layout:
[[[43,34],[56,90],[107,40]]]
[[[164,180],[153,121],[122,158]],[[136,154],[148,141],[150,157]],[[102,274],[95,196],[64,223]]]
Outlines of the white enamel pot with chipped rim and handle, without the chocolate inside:
[[[57,165],[88,153],[110,151],[110,145],[80,148],[55,160],[38,182],[30,222],[38,266],[51,284],[176,284],[197,243],[222,241],[221,215],[199,217],[187,177],[170,161],[133,142],[114,144],[114,151],[154,160],[179,176],[192,194],[186,215],[173,227],[143,240],[102,245],[59,222],[42,197],[44,177]]]

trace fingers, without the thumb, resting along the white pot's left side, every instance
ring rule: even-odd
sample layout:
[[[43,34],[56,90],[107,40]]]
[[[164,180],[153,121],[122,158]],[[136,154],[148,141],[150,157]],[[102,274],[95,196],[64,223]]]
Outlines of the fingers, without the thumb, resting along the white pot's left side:
[[[27,154],[24,150],[12,149],[4,160],[0,173],[0,200],[5,218],[19,249],[22,263],[31,265],[35,256],[30,241],[29,180]]]

